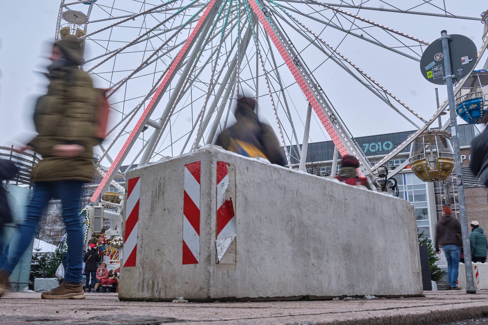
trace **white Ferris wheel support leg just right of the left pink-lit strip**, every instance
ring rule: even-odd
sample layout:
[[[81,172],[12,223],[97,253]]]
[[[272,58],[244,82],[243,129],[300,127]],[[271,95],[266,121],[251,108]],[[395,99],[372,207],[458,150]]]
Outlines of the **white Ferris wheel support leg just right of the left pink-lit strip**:
[[[185,81],[185,77],[188,75],[191,67],[193,66],[193,61],[197,57],[198,53],[200,52],[200,48],[203,44],[203,41],[205,40],[205,35],[208,33],[208,30],[210,29],[210,26],[212,25],[213,18],[215,14],[217,14],[217,7],[214,7],[213,14],[209,15],[207,17],[207,20],[205,21],[205,25],[203,26],[203,29],[199,30],[199,36],[196,42],[193,43],[193,51],[191,52],[190,56],[186,60],[186,65],[183,68],[183,71],[181,73],[180,79],[178,79],[178,82],[175,85],[175,88],[173,89],[171,96],[168,99],[168,103],[166,104],[166,107],[164,108],[163,114],[161,115],[161,118],[159,120],[159,125],[160,129],[153,132],[151,134],[151,137],[147,141],[147,147],[144,150],[144,153],[142,153],[141,158],[139,160],[139,166],[142,166],[147,163],[147,161],[150,158],[150,155],[153,153],[153,148],[156,145],[156,141],[159,137],[160,132],[162,131],[163,125],[168,118],[169,114],[171,113],[171,108],[173,107],[173,104],[175,100],[177,99],[180,90],[183,87],[183,83]],[[175,69],[176,70],[176,69]],[[159,97],[161,98],[161,97]],[[164,130],[163,130],[164,131]]]

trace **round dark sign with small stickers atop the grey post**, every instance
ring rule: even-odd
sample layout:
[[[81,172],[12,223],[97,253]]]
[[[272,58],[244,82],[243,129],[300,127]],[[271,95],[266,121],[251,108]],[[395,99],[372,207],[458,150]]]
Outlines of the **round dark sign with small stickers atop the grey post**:
[[[453,80],[457,81],[467,76],[476,64],[476,45],[474,42],[458,34],[450,35],[449,54],[451,57],[451,72]],[[420,59],[420,71],[422,76],[437,85],[446,84],[446,68],[444,66],[444,54],[442,53],[442,42],[436,39],[424,51]]]

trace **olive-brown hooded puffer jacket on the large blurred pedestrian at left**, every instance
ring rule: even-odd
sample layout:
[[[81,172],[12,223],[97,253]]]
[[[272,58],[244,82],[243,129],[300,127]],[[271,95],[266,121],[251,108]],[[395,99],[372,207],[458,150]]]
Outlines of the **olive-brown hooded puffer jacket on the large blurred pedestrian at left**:
[[[100,92],[93,88],[88,74],[78,69],[81,45],[76,39],[65,38],[55,43],[64,57],[49,68],[50,84],[35,107],[34,125],[38,135],[30,146],[42,160],[32,170],[33,182],[93,179],[93,146],[96,139],[97,109]],[[58,144],[79,144],[84,151],[77,157],[57,157],[53,147]]]

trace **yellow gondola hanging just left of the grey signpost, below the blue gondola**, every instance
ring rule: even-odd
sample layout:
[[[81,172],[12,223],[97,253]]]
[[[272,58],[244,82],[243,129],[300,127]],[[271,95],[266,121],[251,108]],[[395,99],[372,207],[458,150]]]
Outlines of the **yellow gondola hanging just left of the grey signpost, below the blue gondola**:
[[[412,172],[424,182],[444,181],[454,169],[451,133],[428,130],[419,135],[410,147]]]

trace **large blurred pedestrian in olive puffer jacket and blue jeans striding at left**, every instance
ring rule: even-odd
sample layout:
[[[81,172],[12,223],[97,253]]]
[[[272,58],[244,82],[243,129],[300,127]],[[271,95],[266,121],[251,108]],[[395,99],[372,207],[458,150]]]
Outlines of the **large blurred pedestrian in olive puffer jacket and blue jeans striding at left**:
[[[68,260],[64,282],[41,294],[42,299],[84,299],[82,287],[83,233],[79,212],[83,183],[94,176],[93,146],[97,144],[96,119],[100,93],[90,76],[78,68],[81,42],[65,38],[55,43],[48,67],[47,94],[36,104],[34,124],[38,135],[22,150],[40,153],[42,160],[31,174],[34,183],[26,220],[19,226],[14,252],[0,264],[0,295],[9,275],[28,248],[44,208],[51,198],[61,200],[67,232]]]

